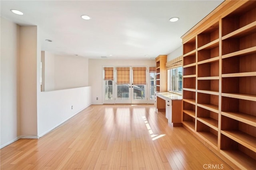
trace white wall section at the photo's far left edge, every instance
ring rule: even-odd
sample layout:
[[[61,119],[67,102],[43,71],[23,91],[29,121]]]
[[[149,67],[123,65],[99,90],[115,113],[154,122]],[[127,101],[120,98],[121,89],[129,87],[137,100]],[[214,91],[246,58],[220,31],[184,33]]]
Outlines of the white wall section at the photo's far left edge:
[[[2,148],[19,136],[18,53],[20,26],[4,18],[0,19],[0,146]]]

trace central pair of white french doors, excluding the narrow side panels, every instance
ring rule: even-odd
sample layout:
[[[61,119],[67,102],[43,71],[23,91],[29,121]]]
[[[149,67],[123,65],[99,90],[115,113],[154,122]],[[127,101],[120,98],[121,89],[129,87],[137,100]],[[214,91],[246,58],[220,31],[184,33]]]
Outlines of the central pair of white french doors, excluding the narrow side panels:
[[[147,67],[116,67],[115,103],[148,103]]]

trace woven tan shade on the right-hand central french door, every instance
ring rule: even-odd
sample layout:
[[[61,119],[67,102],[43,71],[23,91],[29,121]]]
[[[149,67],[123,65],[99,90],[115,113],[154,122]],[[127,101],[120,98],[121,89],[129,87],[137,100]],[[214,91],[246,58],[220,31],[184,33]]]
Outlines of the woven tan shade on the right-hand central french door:
[[[132,67],[134,85],[146,85],[146,69],[146,67]]]

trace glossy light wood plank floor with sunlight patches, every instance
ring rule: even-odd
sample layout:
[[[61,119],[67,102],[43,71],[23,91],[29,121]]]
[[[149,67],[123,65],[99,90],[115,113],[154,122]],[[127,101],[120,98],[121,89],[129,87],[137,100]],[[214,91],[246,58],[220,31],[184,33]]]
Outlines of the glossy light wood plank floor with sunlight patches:
[[[92,105],[42,138],[0,152],[1,170],[231,169],[186,129],[168,125],[154,105]]]

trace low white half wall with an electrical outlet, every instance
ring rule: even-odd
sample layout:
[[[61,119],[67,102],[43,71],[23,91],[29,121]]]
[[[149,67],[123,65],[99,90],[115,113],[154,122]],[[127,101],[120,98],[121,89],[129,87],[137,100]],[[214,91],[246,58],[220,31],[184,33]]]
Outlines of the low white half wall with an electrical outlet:
[[[40,92],[38,96],[38,136],[43,136],[90,104],[91,87]]]

